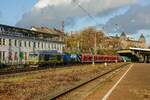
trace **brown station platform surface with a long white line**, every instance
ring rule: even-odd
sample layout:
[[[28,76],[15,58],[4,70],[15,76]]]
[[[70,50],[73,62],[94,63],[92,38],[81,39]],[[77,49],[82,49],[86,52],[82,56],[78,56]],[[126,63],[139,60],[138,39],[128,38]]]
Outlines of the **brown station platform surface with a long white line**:
[[[150,64],[132,64],[86,100],[150,100]]]

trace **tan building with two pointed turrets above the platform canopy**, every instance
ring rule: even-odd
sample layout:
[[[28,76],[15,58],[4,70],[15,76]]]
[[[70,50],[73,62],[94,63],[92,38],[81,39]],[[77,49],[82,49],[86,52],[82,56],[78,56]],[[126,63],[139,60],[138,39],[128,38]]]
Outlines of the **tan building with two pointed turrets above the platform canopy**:
[[[138,40],[134,40],[122,33],[120,36],[104,37],[101,44],[101,48],[113,50],[129,49],[130,47],[147,48],[144,35],[141,34]]]

